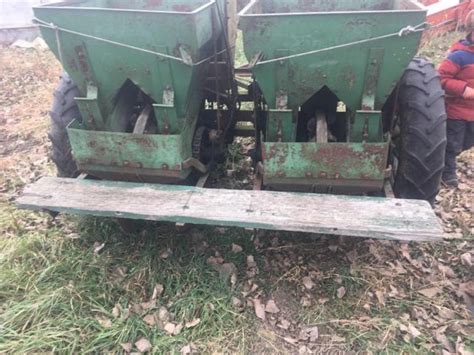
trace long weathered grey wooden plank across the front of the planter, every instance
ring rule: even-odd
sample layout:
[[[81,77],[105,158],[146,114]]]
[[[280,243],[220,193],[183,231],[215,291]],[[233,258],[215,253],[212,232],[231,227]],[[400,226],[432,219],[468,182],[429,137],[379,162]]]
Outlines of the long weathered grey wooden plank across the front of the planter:
[[[17,203],[28,209],[175,223],[414,241],[443,237],[429,204],[415,200],[48,177],[28,186]]]

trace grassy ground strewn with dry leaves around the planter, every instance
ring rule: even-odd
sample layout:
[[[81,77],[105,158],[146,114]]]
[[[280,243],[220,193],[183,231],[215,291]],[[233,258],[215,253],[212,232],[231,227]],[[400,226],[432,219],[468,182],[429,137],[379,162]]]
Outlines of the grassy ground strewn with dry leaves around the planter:
[[[456,36],[423,53],[439,61]],[[1,353],[473,350],[472,151],[460,188],[438,199],[449,233],[438,244],[155,223],[124,235],[111,220],[14,207],[54,173],[60,68],[19,49],[0,50],[0,68]]]

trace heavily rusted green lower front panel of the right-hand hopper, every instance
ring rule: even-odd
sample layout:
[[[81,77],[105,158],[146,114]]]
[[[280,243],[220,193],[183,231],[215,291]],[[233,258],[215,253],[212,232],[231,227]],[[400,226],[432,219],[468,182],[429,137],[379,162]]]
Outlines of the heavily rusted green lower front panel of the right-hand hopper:
[[[388,143],[263,143],[265,178],[378,180]]]

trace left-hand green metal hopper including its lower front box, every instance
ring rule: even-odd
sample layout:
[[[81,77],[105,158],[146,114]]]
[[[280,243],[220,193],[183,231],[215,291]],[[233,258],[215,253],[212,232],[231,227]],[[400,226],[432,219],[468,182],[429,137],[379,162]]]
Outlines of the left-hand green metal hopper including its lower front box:
[[[68,129],[81,170],[186,178],[212,42],[222,32],[215,4],[89,0],[34,8],[44,39],[82,94],[76,102],[84,119]],[[152,107],[150,134],[133,134],[127,121],[137,94]]]

